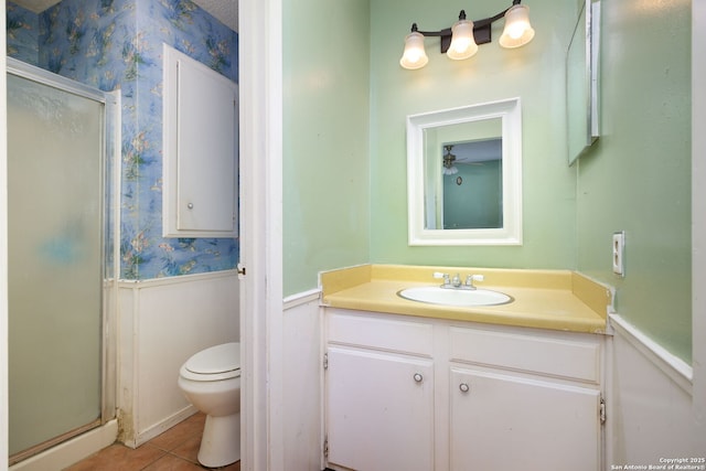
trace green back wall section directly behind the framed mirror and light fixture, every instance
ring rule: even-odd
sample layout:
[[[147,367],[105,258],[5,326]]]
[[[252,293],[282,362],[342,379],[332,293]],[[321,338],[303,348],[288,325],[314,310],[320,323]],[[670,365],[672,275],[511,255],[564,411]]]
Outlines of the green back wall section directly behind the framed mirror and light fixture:
[[[504,50],[494,41],[467,61],[425,41],[429,64],[399,66],[404,36],[450,26],[459,11],[491,17],[511,1],[426,0],[371,2],[371,258],[375,263],[567,268],[576,254],[576,170],[566,163],[564,62],[577,14],[574,2],[533,0],[536,31],[528,45]],[[407,115],[520,97],[523,114],[524,245],[517,247],[410,247],[407,245]]]

